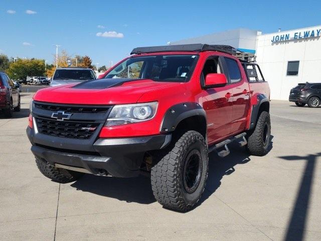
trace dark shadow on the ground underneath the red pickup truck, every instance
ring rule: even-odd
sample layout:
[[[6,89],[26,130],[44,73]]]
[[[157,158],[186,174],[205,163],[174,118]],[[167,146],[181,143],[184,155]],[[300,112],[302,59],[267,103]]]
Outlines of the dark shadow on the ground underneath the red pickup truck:
[[[273,136],[271,136],[271,140],[272,138]],[[209,155],[208,181],[200,204],[219,188],[221,179],[225,175],[231,175],[235,171],[234,167],[236,165],[245,164],[250,161],[250,155],[246,148],[238,147],[236,144],[230,144],[229,147],[231,154],[225,158],[218,157],[216,153]],[[271,149],[272,141],[268,151]],[[91,192],[126,202],[150,204],[156,201],[152,194],[150,178],[145,176],[116,178],[86,174],[81,179],[72,183],[71,186],[83,192]]]

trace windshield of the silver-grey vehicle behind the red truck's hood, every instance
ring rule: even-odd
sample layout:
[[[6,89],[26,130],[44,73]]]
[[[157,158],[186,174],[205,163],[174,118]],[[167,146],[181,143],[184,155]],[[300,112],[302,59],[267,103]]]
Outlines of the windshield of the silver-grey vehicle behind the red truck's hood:
[[[57,69],[53,79],[96,79],[91,70],[86,69]]]

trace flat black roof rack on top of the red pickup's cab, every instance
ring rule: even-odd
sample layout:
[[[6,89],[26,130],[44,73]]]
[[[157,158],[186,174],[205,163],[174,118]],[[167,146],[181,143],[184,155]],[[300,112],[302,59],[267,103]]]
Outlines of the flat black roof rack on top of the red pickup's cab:
[[[184,51],[218,51],[234,55],[241,61],[255,62],[255,55],[242,52],[229,45],[209,45],[209,44],[182,44],[134,48],[130,54],[157,53],[157,52],[184,52]]]

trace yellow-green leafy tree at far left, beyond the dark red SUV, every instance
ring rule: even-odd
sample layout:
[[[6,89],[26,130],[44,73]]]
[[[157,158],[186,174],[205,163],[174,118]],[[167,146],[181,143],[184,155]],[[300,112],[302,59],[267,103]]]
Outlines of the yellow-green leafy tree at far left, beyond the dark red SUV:
[[[43,59],[18,59],[11,62],[7,70],[12,79],[26,79],[27,76],[43,76],[45,64]]]

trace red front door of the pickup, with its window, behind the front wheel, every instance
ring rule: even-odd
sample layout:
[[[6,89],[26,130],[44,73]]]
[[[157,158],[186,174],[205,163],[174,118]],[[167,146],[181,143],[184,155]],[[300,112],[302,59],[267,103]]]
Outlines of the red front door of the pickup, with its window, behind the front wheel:
[[[201,73],[201,85],[210,73],[223,73],[222,57],[210,56]],[[231,132],[232,89],[228,85],[203,90],[203,108],[207,115],[208,143],[214,143]]]

